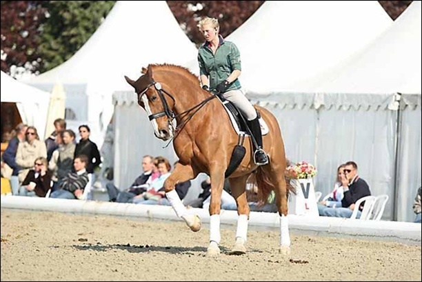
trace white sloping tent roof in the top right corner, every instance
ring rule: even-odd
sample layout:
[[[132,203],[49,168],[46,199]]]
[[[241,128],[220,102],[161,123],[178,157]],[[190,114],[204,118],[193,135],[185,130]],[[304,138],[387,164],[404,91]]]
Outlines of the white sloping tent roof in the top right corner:
[[[300,87],[325,93],[420,94],[421,34],[421,1],[413,1],[390,28],[363,50],[332,70],[302,81]]]

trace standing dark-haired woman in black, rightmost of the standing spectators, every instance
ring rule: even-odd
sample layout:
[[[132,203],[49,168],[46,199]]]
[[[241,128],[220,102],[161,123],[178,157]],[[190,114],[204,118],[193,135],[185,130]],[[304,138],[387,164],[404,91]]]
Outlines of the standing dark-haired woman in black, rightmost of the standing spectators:
[[[74,150],[74,156],[79,156],[81,154],[88,157],[88,165],[86,171],[88,173],[94,173],[94,170],[99,168],[101,164],[101,156],[97,148],[97,144],[90,140],[90,128],[88,125],[79,126],[79,134],[81,135],[81,140],[77,144]]]

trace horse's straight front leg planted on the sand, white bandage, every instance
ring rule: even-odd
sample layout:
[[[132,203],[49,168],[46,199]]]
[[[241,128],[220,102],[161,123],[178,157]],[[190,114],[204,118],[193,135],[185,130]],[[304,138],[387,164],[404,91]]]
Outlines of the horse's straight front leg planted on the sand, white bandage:
[[[211,201],[210,201],[210,245],[208,245],[206,256],[218,256],[220,254],[220,210],[221,193],[224,185],[224,172],[221,167],[210,172],[211,180]]]

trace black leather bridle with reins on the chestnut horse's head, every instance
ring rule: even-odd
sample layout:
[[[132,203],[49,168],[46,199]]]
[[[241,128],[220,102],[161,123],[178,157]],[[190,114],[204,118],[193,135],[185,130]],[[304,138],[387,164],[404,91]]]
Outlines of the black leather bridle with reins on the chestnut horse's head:
[[[150,84],[148,84],[145,87],[144,90],[142,90],[142,92],[137,92],[137,95],[138,95],[138,104],[141,102],[141,99],[142,99],[143,95],[147,92],[147,90],[152,85],[154,85],[155,90],[157,90],[157,92],[159,94],[159,98],[161,99],[161,103],[163,104],[164,110],[162,112],[157,112],[155,114],[150,114],[148,116],[148,119],[150,119],[150,121],[152,121],[153,119],[158,119],[159,117],[166,116],[168,118],[168,128],[172,132],[172,136],[173,136],[172,139],[175,139],[179,135],[179,133],[181,132],[181,130],[183,130],[183,128],[185,127],[186,123],[188,123],[188,121],[190,121],[190,119],[192,119],[192,117],[194,116],[194,114],[196,114],[203,107],[203,105],[205,105],[205,103],[208,103],[208,101],[210,101],[210,100],[212,100],[212,99],[214,99],[216,97],[215,95],[211,95],[207,99],[201,101],[201,103],[199,103],[197,105],[194,105],[192,108],[190,108],[188,110],[185,110],[184,112],[181,112],[180,114],[174,114],[174,112],[172,110],[170,110],[170,107],[169,107],[169,105],[167,103],[167,100],[164,98],[164,94],[166,94],[168,97],[170,97],[173,100],[174,105],[176,105],[176,100],[174,99],[174,97],[172,97],[172,95],[169,92],[165,91],[161,87],[161,83],[159,83],[159,82],[152,81]],[[164,92],[164,94],[163,94],[163,92]],[[192,112],[193,110],[194,110],[194,112]],[[192,113],[188,116],[188,114],[190,112],[192,112]],[[183,119],[186,116],[188,116],[188,117],[186,119]],[[177,119],[177,117],[180,117],[181,118],[181,123],[179,125],[177,125],[177,128],[174,128],[173,120],[174,119]],[[170,141],[171,141],[171,139],[170,139]]]

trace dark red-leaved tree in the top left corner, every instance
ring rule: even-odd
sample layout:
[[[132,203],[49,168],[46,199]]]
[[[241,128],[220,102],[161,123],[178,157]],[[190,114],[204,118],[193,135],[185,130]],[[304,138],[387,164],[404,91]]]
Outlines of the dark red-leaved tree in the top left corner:
[[[40,25],[45,19],[43,1],[1,1],[1,70],[11,66],[37,70]]]

